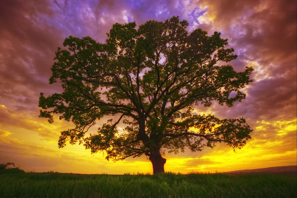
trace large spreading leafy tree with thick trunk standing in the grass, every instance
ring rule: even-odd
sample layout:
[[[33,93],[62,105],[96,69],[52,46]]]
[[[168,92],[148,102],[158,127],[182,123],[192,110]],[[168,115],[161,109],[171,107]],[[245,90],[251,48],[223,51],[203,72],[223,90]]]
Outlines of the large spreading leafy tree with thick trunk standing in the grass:
[[[41,93],[39,100],[40,117],[52,123],[59,114],[76,126],[61,132],[58,146],[83,143],[113,160],[145,154],[153,173],[164,172],[166,150],[200,151],[217,142],[244,147],[252,131],[244,118],[198,115],[195,107],[214,100],[231,107],[245,99],[242,88],[252,82],[252,68],[236,72],[224,65],[237,58],[227,39],[201,29],[188,33],[188,25],[179,17],[138,27],[116,23],[105,44],[66,38],[66,48],[55,52],[49,79],[60,83],[63,93]],[[97,133],[86,135],[102,118],[107,121]],[[118,124],[126,127],[119,130]]]

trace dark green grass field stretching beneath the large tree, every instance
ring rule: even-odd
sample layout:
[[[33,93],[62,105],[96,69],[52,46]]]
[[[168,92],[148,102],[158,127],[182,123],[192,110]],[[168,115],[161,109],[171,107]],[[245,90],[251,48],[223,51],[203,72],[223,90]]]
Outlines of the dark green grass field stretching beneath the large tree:
[[[296,198],[296,175],[78,175],[0,171],[1,198]]]

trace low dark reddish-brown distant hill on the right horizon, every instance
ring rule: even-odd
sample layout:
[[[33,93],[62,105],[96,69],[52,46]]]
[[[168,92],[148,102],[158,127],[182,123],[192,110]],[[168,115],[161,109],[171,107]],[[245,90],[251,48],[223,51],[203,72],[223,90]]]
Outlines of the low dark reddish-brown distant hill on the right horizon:
[[[230,175],[261,174],[261,173],[297,174],[297,166],[277,166],[277,167],[269,167],[269,168],[236,170],[236,171],[222,172],[222,173],[230,174]]]

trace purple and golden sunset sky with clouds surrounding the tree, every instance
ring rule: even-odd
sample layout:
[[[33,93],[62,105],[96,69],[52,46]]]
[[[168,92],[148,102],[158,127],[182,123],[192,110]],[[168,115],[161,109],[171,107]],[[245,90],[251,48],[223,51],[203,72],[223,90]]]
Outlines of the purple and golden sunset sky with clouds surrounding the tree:
[[[82,145],[58,148],[70,122],[39,118],[40,92],[49,85],[54,52],[63,40],[90,36],[104,43],[112,24],[172,16],[228,38],[238,55],[235,70],[252,66],[246,99],[233,107],[213,103],[198,113],[244,117],[253,129],[241,150],[218,144],[200,152],[165,154],[165,171],[224,172],[297,164],[297,4],[296,0],[2,0],[0,1],[0,163],[25,171],[72,173],[152,173],[145,157],[107,161]]]

